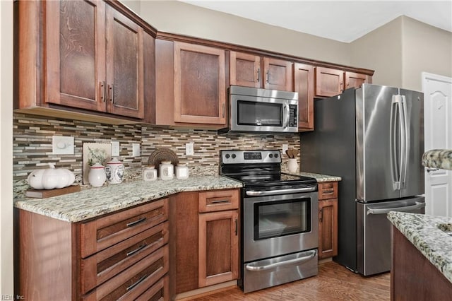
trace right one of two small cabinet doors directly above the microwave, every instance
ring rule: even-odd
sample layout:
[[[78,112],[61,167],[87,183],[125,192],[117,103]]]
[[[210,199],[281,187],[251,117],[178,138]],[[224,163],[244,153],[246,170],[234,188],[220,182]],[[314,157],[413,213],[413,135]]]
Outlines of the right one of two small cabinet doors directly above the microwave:
[[[266,89],[293,91],[292,62],[281,59],[263,58],[262,75],[265,80],[263,87]]]

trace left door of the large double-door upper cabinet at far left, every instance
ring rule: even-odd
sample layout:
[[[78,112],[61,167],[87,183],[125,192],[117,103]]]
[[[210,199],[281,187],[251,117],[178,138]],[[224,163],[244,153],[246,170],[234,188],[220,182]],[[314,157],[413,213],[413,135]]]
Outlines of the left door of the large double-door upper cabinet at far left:
[[[105,2],[46,1],[45,102],[105,110]]]

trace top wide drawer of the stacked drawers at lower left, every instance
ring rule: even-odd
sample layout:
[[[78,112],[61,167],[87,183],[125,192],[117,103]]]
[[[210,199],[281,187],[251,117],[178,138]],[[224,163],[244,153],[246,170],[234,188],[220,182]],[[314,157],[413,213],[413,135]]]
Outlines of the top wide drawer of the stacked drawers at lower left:
[[[161,199],[81,224],[81,257],[117,244],[168,219],[168,199]]]

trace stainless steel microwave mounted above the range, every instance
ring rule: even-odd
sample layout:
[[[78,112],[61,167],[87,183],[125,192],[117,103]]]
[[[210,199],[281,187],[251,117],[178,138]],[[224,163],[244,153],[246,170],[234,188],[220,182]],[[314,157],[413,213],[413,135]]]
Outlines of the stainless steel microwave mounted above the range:
[[[231,85],[229,131],[298,131],[298,93]]]

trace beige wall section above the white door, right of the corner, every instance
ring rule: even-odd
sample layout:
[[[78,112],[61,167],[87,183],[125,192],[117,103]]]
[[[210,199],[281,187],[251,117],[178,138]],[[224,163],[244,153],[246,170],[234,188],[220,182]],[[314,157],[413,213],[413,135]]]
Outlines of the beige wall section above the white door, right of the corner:
[[[403,17],[403,88],[422,90],[421,73],[452,77],[452,33]]]

